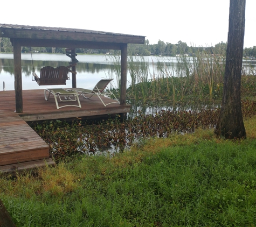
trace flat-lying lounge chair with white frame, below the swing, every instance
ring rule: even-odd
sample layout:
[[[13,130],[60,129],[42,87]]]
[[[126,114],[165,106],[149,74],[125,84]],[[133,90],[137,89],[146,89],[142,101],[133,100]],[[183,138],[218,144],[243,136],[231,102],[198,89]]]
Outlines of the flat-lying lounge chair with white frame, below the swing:
[[[49,94],[47,95],[47,91],[49,92]],[[67,91],[63,88],[47,88],[44,90],[44,96],[45,96],[45,100],[48,101],[50,95],[53,94],[54,96],[54,100],[56,102],[56,106],[57,109],[59,108],[63,108],[63,107],[80,107],[81,108],[81,104],[80,104],[80,100],[78,97],[78,93],[76,91]],[[61,96],[64,97],[64,100],[61,99]],[[61,102],[72,102],[72,101],[78,101],[78,105],[64,105],[62,107],[59,107],[58,101],[57,101],[57,97],[59,97]],[[71,98],[72,97],[72,98]]]

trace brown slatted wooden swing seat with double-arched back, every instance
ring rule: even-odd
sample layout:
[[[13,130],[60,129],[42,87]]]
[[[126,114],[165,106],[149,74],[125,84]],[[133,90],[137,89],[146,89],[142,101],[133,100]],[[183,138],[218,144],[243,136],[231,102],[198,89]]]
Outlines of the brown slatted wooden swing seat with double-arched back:
[[[40,70],[39,86],[41,85],[66,85],[68,80],[68,69],[65,66],[59,66],[53,68],[51,66],[45,66]]]

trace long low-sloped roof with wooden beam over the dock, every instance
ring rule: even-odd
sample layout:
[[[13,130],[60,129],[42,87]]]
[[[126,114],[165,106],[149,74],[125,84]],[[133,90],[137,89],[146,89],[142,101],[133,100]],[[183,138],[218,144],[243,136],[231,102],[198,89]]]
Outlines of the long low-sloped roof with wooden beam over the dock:
[[[22,46],[121,49],[121,44],[144,44],[145,36],[113,32],[0,24],[0,37],[19,39]]]

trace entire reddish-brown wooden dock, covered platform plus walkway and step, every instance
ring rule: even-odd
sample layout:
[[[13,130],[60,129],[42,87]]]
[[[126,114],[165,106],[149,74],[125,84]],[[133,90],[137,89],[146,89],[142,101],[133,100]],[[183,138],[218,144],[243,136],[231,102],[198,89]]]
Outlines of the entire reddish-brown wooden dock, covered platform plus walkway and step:
[[[45,100],[44,89],[23,90],[23,113],[15,112],[15,91],[0,91],[0,100],[0,172],[54,164],[49,158],[49,146],[26,122],[95,118],[130,111],[130,105],[114,103],[105,107],[96,96],[89,100],[80,96],[81,108],[57,109],[53,96]],[[112,101],[107,97],[103,100]],[[66,103],[59,102],[62,104]]]

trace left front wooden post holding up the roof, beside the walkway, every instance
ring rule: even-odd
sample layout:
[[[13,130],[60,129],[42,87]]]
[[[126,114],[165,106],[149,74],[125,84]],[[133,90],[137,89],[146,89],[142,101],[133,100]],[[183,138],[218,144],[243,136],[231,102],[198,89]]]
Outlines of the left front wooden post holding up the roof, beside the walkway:
[[[16,112],[23,112],[22,98],[22,51],[19,39],[13,39],[13,61],[14,61],[14,76],[15,76],[15,98]]]

